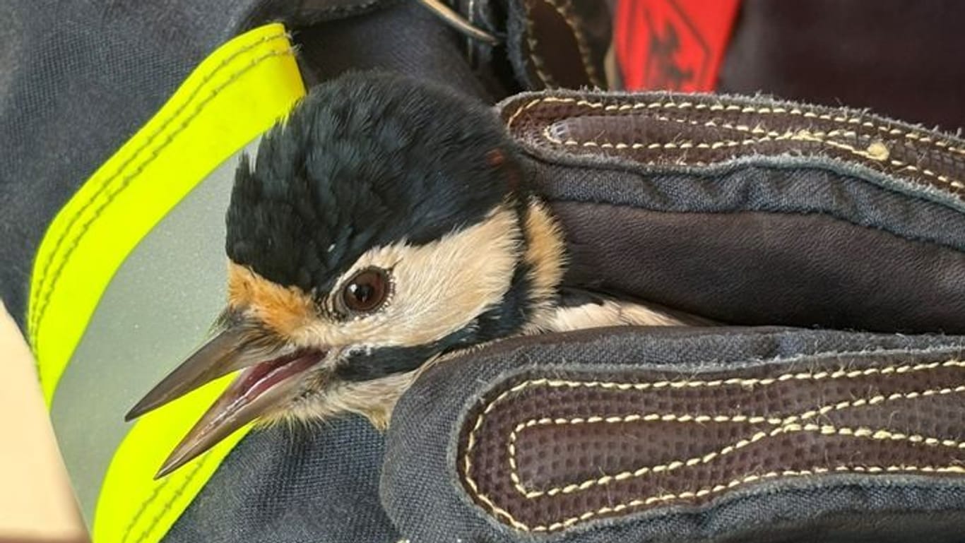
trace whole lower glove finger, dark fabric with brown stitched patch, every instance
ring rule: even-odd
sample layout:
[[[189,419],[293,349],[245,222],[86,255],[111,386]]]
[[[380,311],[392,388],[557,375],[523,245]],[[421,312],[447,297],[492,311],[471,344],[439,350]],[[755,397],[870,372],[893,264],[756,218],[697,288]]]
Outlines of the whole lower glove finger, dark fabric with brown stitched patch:
[[[962,340],[610,328],[498,342],[401,398],[383,504],[413,541],[956,543]]]

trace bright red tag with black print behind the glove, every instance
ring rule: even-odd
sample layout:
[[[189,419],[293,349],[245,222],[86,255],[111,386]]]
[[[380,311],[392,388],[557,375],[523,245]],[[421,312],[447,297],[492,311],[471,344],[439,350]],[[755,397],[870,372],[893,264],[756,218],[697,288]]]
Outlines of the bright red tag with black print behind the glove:
[[[713,91],[740,0],[619,0],[614,48],[629,91]]]

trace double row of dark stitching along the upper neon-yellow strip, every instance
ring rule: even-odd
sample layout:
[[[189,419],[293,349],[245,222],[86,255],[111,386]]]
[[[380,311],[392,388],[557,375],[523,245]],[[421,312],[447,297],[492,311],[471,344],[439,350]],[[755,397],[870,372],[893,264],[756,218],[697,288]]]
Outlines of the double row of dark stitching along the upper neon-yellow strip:
[[[279,34],[279,35],[275,35],[272,39],[284,38],[285,36],[286,36],[285,34]],[[257,45],[262,44],[262,42],[268,41],[268,38],[269,38],[269,37],[265,37],[264,39],[262,39],[262,41],[259,41],[258,43],[255,43],[255,44],[251,44],[249,47],[246,47],[245,50],[250,50],[251,48],[254,48],[254,47],[257,46]],[[238,54],[240,54],[240,53],[238,53]],[[232,72],[231,75],[229,76],[229,78],[228,78],[226,81],[224,81],[224,82],[223,82],[221,85],[219,85],[218,87],[215,87],[214,89],[212,89],[209,95],[207,95],[205,98],[203,98],[200,102],[197,103],[197,105],[196,105],[196,107],[195,107],[195,110],[194,110],[193,112],[191,112],[191,114],[190,114],[189,116],[187,116],[187,117],[180,123],[180,125],[179,125],[171,134],[169,134],[169,135],[164,139],[164,141],[163,141],[159,146],[157,146],[156,148],[152,149],[152,150],[150,151],[150,154],[144,159],[144,161],[142,161],[140,164],[138,164],[138,165],[134,168],[134,170],[133,170],[128,176],[125,176],[125,177],[121,180],[121,182],[119,183],[119,186],[117,186],[117,187],[115,188],[115,190],[110,191],[110,192],[107,192],[107,189],[110,188],[111,182],[112,182],[114,179],[116,179],[118,176],[120,176],[122,172],[124,172],[124,168],[126,168],[126,166],[127,166],[129,163],[133,162],[133,160],[134,160],[144,149],[147,149],[147,148],[151,145],[151,143],[153,142],[153,139],[156,138],[161,132],[163,132],[164,129],[167,128],[172,122],[174,122],[175,120],[177,120],[178,117],[179,117],[179,115],[180,115],[180,113],[181,113],[182,111],[184,111],[184,109],[186,109],[186,106],[194,101],[194,95],[192,95],[192,97],[188,98],[188,100],[184,102],[184,104],[182,105],[182,107],[180,107],[179,110],[178,110],[175,114],[173,114],[171,117],[169,117],[169,118],[162,124],[162,126],[159,127],[159,128],[149,137],[148,141],[144,144],[144,146],[142,146],[141,148],[137,149],[137,150],[134,152],[134,154],[131,155],[131,158],[129,158],[128,160],[124,161],[124,164],[118,169],[118,172],[117,172],[116,174],[114,174],[113,176],[108,177],[108,178],[101,184],[101,186],[96,190],[95,194],[93,194],[93,195],[91,196],[91,198],[90,198],[85,204],[83,204],[80,209],[78,209],[78,210],[73,214],[73,216],[72,216],[72,217],[70,218],[70,220],[69,220],[68,226],[65,227],[63,233],[61,234],[61,236],[58,238],[57,242],[55,243],[55,246],[54,246],[53,250],[51,250],[51,252],[50,252],[50,254],[49,254],[48,258],[47,258],[47,261],[45,262],[45,264],[44,264],[44,266],[43,266],[43,268],[42,268],[42,271],[41,271],[41,279],[40,279],[40,281],[39,281],[39,283],[38,283],[38,292],[39,292],[38,298],[39,298],[39,303],[38,303],[38,305],[37,305],[37,308],[38,308],[38,309],[37,309],[37,313],[36,313],[37,316],[36,316],[36,318],[33,319],[33,326],[30,327],[30,330],[32,331],[32,332],[31,332],[31,336],[32,336],[32,341],[31,341],[31,342],[35,345],[35,349],[37,348],[36,345],[37,345],[38,334],[39,334],[39,331],[40,331],[41,321],[43,320],[43,316],[44,316],[44,314],[45,314],[45,312],[46,312],[46,309],[47,309],[47,306],[49,305],[49,302],[50,302],[50,297],[52,296],[53,291],[54,291],[54,289],[55,289],[55,287],[56,287],[56,285],[57,285],[57,281],[58,281],[58,279],[59,279],[59,277],[60,277],[60,274],[61,274],[61,272],[64,271],[64,266],[67,264],[67,261],[68,261],[70,255],[71,255],[71,254],[73,253],[73,251],[76,249],[77,245],[80,243],[80,240],[84,237],[84,234],[90,229],[90,227],[91,227],[91,225],[94,223],[94,221],[96,221],[96,219],[100,216],[100,213],[102,213],[103,210],[107,207],[107,205],[109,205],[111,202],[113,202],[114,199],[117,198],[118,195],[120,195],[122,192],[124,192],[124,189],[126,189],[126,188],[130,185],[130,183],[131,183],[137,176],[139,176],[139,175],[141,174],[141,172],[143,172],[144,169],[145,169],[149,164],[152,163],[152,161],[158,156],[158,154],[161,152],[161,150],[165,149],[168,145],[170,145],[170,144],[175,140],[175,138],[176,138],[182,131],[184,131],[184,130],[190,125],[190,123],[191,123],[192,121],[194,121],[194,119],[196,119],[196,118],[204,111],[204,109],[205,109],[205,107],[207,106],[207,104],[210,103],[210,101],[211,101],[212,99],[214,99],[215,96],[219,95],[222,91],[224,91],[226,88],[228,88],[229,86],[231,86],[231,85],[232,85],[235,81],[237,81],[237,79],[238,79],[241,75],[243,75],[245,72],[251,70],[252,68],[257,67],[257,66],[258,66],[259,64],[261,64],[262,62],[264,62],[264,61],[266,61],[266,60],[268,60],[268,59],[270,59],[270,58],[282,57],[282,56],[290,56],[290,55],[292,55],[292,54],[293,54],[293,51],[292,51],[292,49],[291,49],[290,47],[287,48],[287,49],[285,49],[285,50],[273,50],[273,51],[269,51],[269,52],[264,53],[264,54],[262,54],[262,55],[260,55],[260,56],[258,56],[258,57],[253,58],[252,61],[251,61],[249,64],[247,64],[247,65],[244,66],[244,67],[238,68],[237,70],[235,70],[234,72]],[[236,56],[237,56],[237,55],[234,55],[234,57],[236,57]],[[227,63],[228,63],[228,59],[226,59],[221,65],[219,65],[219,68],[221,68],[221,67],[223,67],[223,66],[227,66]],[[206,80],[204,80],[201,84],[199,84],[199,86],[196,88],[195,93],[200,94],[200,90],[207,85],[207,82],[210,81],[211,78],[213,78],[214,74],[215,74],[215,72],[212,71],[212,72],[208,75],[208,78],[207,78]],[[96,208],[94,209],[94,214],[93,214],[93,216],[92,216],[90,219],[88,219],[87,222],[85,222],[83,225],[81,225],[81,226],[80,226],[80,229],[79,229],[78,231],[76,231],[76,235],[73,236],[73,239],[71,240],[70,245],[69,245],[69,246],[67,247],[67,249],[65,250],[64,255],[60,258],[60,262],[59,262],[57,268],[56,268],[56,269],[53,271],[53,273],[50,275],[49,282],[47,282],[47,280],[46,280],[47,272],[49,271],[50,265],[53,263],[54,256],[56,255],[57,251],[59,250],[61,244],[62,244],[62,243],[64,242],[64,240],[69,236],[69,234],[70,234],[71,231],[73,230],[73,226],[76,224],[77,220],[80,219],[81,215],[83,215],[84,212],[87,211],[87,209],[89,209],[92,205],[94,205],[95,202],[96,202],[96,200],[97,200],[101,195],[103,195],[105,192],[107,192],[106,198],[104,198],[103,201],[96,206]],[[44,285],[46,285],[46,288],[44,288]],[[42,294],[41,294],[41,293],[42,293]]]

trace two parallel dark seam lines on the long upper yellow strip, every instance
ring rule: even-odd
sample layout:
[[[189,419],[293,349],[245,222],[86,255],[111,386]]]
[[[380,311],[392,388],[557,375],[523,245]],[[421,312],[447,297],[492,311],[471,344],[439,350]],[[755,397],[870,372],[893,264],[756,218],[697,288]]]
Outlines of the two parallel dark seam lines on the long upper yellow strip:
[[[279,36],[280,36],[280,37],[285,37],[286,35],[283,34],[283,35],[279,35]],[[238,68],[236,71],[232,72],[227,80],[225,80],[225,81],[224,81],[221,85],[219,85],[218,87],[215,87],[214,89],[212,89],[211,92],[210,92],[207,96],[205,96],[200,102],[198,102],[197,107],[194,109],[194,111],[193,111],[188,117],[186,117],[183,121],[181,121],[181,123],[180,123],[180,125],[178,126],[178,128],[175,129],[171,134],[169,134],[169,135],[167,136],[167,138],[166,138],[157,148],[152,149],[151,153],[144,159],[144,161],[142,161],[140,164],[138,164],[138,165],[134,168],[133,172],[131,172],[128,176],[125,176],[123,179],[121,179],[121,182],[118,183],[120,186],[118,186],[113,192],[107,192],[106,200],[104,200],[103,202],[101,202],[100,204],[98,204],[98,206],[97,206],[96,209],[94,210],[94,216],[91,217],[90,219],[88,219],[88,221],[87,221],[86,223],[84,223],[83,225],[81,225],[80,231],[78,232],[77,236],[74,237],[74,239],[71,241],[71,244],[69,245],[69,247],[66,249],[66,253],[65,253],[64,256],[61,258],[60,264],[58,265],[57,269],[54,270],[53,275],[52,275],[51,280],[50,280],[50,285],[45,289],[44,295],[43,295],[43,297],[41,298],[41,301],[40,301],[40,306],[38,307],[38,310],[37,310],[37,318],[34,319],[34,325],[33,325],[33,327],[30,328],[30,330],[32,331],[32,333],[31,333],[31,343],[32,343],[32,345],[34,345],[35,348],[37,347],[37,339],[38,339],[37,334],[38,334],[39,331],[40,331],[41,321],[43,320],[43,316],[45,315],[46,308],[47,308],[47,306],[49,305],[50,296],[53,294],[54,287],[55,287],[55,285],[56,285],[56,283],[57,283],[56,280],[57,280],[57,278],[60,276],[60,273],[64,270],[64,266],[67,265],[67,261],[68,261],[68,259],[69,259],[70,254],[71,254],[71,253],[73,252],[73,250],[77,247],[77,244],[80,243],[80,240],[81,240],[81,238],[82,238],[83,235],[84,235],[84,232],[86,232],[86,231],[90,228],[91,224],[93,224],[93,222],[94,222],[94,221],[96,220],[96,218],[99,216],[100,212],[103,211],[103,209],[104,209],[108,204],[110,204],[111,202],[113,202],[113,200],[114,200],[119,194],[121,194],[121,192],[123,192],[124,189],[126,189],[126,188],[130,185],[131,181],[133,181],[134,178],[136,178],[137,176],[139,176],[139,175],[141,174],[141,172],[144,171],[144,168],[147,167],[147,165],[150,164],[150,163],[158,156],[158,154],[160,153],[160,151],[161,151],[162,149],[166,148],[172,141],[174,141],[175,137],[176,137],[181,131],[183,131],[185,128],[187,128],[187,126],[188,126],[198,115],[201,114],[201,112],[205,109],[205,107],[207,106],[207,104],[208,104],[212,99],[214,99],[215,96],[217,96],[219,93],[221,93],[223,90],[225,90],[226,88],[228,88],[231,84],[233,84],[234,81],[236,81],[236,80],[238,79],[238,77],[240,77],[242,74],[244,74],[244,73],[247,72],[248,70],[257,67],[257,66],[260,65],[262,62],[264,62],[264,61],[266,61],[266,60],[268,60],[268,59],[270,59],[270,58],[290,56],[290,55],[293,55],[293,54],[294,54],[294,51],[293,51],[291,48],[288,48],[288,49],[286,49],[286,50],[281,50],[281,51],[279,51],[279,50],[269,51],[269,52],[264,53],[264,54],[262,54],[262,55],[260,55],[260,56],[258,56],[258,57],[253,58],[252,61],[249,62],[247,65],[245,65],[245,66],[243,66],[243,67],[241,67],[241,68]],[[219,65],[219,66],[220,66],[220,65]],[[186,103],[186,102],[185,102],[185,103]],[[140,152],[141,149],[146,149],[146,148],[151,144],[152,138],[155,137],[156,134],[159,134],[161,131],[163,131],[163,129],[164,129],[167,125],[170,124],[170,122],[174,122],[174,121],[177,119],[177,116],[179,115],[179,113],[180,113],[182,110],[179,109],[178,111],[179,111],[178,113],[176,113],[174,116],[172,116],[171,118],[169,118],[169,119],[165,122],[164,126],[162,126],[161,128],[158,128],[158,130],[157,130],[154,134],[152,134],[152,136],[148,139],[147,143],[146,143],[142,148],[139,148],[137,151],[135,151],[135,153],[131,156],[131,158],[128,159],[128,161],[125,162],[124,165],[122,165],[122,167],[118,170],[118,172],[117,172],[114,176],[111,176],[111,177],[108,178],[106,181],[104,181],[104,183],[101,185],[101,187],[97,189],[96,193],[95,193],[93,196],[91,196],[90,201],[89,201],[87,204],[85,204],[85,206],[84,206],[83,208],[81,208],[80,210],[78,210],[78,211],[76,212],[76,214],[74,215],[74,222],[71,222],[71,223],[69,224],[69,226],[65,229],[64,233],[62,234],[62,236],[58,239],[58,243],[62,242],[64,239],[67,238],[70,230],[72,229],[72,225],[75,224],[75,220],[78,219],[78,218],[80,217],[80,215],[81,215],[82,213],[84,213],[84,211],[86,211],[86,209],[87,209],[90,205],[94,204],[94,202],[96,201],[96,199],[97,199],[100,195],[104,194],[104,191],[106,191],[106,190],[110,187],[111,181],[113,181],[114,179],[116,179],[117,176],[119,176],[119,175],[121,174],[121,172],[124,171],[125,165],[128,164],[128,163],[130,162],[130,160],[133,160],[133,158],[137,156],[137,153]],[[50,263],[52,263],[53,255],[54,255],[54,253],[56,252],[56,250],[57,250],[57,247],[55,247],[54,250],[51,251],[51,253],[50,253],[51,256],[50,256],[50,258],[49,258],[49,260],[48,260],[48,262],[47,262],[47,265],[48,265],[48,266],[49,266]],[[44,276],[45,276],[45,273],[44,273]],[[41,291],[41,290],[42,290],[41,285],[42,285],[42,284],[39,283],[38,291]]]

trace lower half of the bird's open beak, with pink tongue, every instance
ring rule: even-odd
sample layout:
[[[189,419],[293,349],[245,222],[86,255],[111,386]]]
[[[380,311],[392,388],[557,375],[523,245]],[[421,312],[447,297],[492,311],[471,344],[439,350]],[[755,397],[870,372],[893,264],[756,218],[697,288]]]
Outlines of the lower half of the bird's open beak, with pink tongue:
[[[324,353],[301,351],[241,371],[174,449],[154,478],[167,475],[290,397],[298,377]]]

